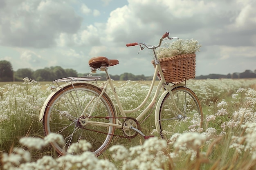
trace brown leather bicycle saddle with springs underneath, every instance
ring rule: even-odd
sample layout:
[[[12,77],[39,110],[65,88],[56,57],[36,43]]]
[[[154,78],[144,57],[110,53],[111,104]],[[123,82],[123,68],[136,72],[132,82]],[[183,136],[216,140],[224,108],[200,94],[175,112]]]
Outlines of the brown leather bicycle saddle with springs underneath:
[[[102,68],[107,68],[109,66],[115,66],[117,64],[119,64],[118,60],[110,60],[107,57],[92,57],[89,60],[89,66],[91,68],[91,71],[95,71],[97,69],[102,69]],[[103,70],[105,70],[105,69],[103,69]]]

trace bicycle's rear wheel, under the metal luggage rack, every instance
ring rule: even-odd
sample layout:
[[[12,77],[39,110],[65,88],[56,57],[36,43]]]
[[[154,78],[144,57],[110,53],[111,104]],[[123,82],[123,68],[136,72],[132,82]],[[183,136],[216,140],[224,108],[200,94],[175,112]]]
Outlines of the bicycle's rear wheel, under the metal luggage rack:
[[[100,97],[101,89],[92,84],[73,83],[64,86],[49,99],[44,110],[43,129],[45,135],[50,132],[61,134],[65,140],[64,144],[53,142],[52,146],[60,155],[67,153],[76,155],[84,150],[72,150],[71,144],[82,139],[90,142],[91,152],[100,155],[106,150],[113,137],[115,126],[98,126],[97,124],[81,124],[79,119],[83,118],[92,110],[90,121],[115,124],[114,106],[106,93]]]

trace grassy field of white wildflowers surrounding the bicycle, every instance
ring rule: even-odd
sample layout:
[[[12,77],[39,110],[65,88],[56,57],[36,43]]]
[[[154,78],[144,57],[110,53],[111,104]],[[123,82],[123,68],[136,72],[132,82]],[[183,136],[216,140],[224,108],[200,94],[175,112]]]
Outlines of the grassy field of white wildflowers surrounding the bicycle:
[[[149,88],[130,81],[116,85],[127,109],[138,105]],[[176,133],[168,143],[159,137],[113,141],[99,157],[89,151],[56,157],[49,143],[62,141],[63,137],[44,137],[38,120],[43,102],[51,92],[51,85],[46,86],[42,88],[39,82],[25,78],[22,85],[0,87],[0,169],[256,169],[256,79],[189,80],[186,86],[198,95],[203,108],[203,132]],[[144,128],[154,125],[152,119],[147,121]],[[154,127],[151,128],[153,131]],[[136,145],[130,144],[133,142]],[[90,148],[87,141],[73,147],[79,146]]]

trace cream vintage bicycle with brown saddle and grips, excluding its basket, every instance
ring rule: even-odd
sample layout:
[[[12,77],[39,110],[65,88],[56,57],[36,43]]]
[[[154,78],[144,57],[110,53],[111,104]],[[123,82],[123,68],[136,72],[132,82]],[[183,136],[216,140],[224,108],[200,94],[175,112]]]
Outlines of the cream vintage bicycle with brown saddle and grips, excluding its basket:
[[[45,135],[50,132],[63,135],[65,144],[52,143],[58,154],[79,154],[79,152],[83,152],[81,150],[75,153],[69,150],[67,153],[67,150],[71,144],[85,139],[92,144],[90,151],[99,156],[110,145],[116,129],[123,131],[122,137],[133,138],[140,134],[148,139],[151,136],[146,136],[141,132],[139,121],[150,109],[154,108],[155,128],[163,139],[168,140],[172,133],[183,132],[181,131],[182,128],[188,130],[189,126],[193,126],[191,119],[193,119],[194,114],[199,117],[200,127],[202,127],[203,115],[200,101],[195,93],[184,84],[189,77],[181,77],[180,82],[171,82],[172,80],[166,78],[169,73],[163,73],[164,71],[162,71],[161,64],[157,59],[156,49],[161,46],[162,41],[176,38],[169,38],[168,35],[169,33],[166,32],[160,38],[159,44],[154,46],[142,42],[126,44],[126,46],[139,45],[140,50],[146,47],[151,49],[154,55],[152,63],[155,66],[155,72],[148,94],[144,101],[132,110],[123,109],[115,91],[113,80],[108,74],[108,67],[119,64],[118,60],[110,60],[107,57],[93,57],[89,60],[92,72],[105,71],[107,79],[102,86],[97,83],[102,78],[98,76],[67,77],[52,82],[56,86],[52,87],[52,93],[46,99],[40,111],[39,119],[43,120]],[[145,106],[153,91],[157,76],[159,77],[159,83],[153,99],[150,104]],[[106,93],[106,88],[109,86],[115,97],[117,108]],[[161,95],[159,95],[160,91],[162,91]],[[136,118],[127,116],[129,113],[136,112],[142,106],[146,108]]]

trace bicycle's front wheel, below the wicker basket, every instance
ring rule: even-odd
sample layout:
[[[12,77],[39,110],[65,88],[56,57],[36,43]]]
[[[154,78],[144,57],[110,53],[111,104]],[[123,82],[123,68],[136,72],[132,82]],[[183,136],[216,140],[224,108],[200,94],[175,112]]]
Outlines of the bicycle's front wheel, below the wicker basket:
[[[178,86],[172,89],[175,104],[167,93],[162,100],[159,110],[160,135],[170,139],[174,133],[187,132],[202,128],[203,113],[198,97],[189,88]]]

